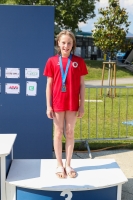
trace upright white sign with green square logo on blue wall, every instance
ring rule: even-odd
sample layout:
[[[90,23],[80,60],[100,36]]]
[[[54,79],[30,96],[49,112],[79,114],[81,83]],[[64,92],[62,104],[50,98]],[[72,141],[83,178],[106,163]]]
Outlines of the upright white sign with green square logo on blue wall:
[[[26,82],[26,95],[27,96],[37,95],[37,82],[32,82],[32,81]]]

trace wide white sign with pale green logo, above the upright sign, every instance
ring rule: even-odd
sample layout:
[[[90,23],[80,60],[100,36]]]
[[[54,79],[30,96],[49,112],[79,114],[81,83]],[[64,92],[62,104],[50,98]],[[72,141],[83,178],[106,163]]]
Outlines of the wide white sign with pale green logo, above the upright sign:
[[[39,68],[25,68],[25,78],[39,78]]]

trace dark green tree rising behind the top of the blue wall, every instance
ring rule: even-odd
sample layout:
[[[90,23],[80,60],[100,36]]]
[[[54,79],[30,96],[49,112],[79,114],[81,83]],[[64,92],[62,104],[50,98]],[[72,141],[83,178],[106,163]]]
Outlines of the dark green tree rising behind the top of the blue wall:
[[[79,22],[95,17],[95,3],[99,0],[16,0],[21,5],[55,6],[55,22],[59,28],[75,31]]]

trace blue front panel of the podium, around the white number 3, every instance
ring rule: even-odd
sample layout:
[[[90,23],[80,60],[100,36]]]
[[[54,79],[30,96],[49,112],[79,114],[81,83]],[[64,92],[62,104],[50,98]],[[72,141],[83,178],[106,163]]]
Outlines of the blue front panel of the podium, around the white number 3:
[[[68,195],[60,196],[61,192],[53,191],[39,191],[31,189],[17,188],[16,200],[65,200]],[[74,191],[72,192],[71,200],[117,200],[117,187],[87,190],[87,191]]]

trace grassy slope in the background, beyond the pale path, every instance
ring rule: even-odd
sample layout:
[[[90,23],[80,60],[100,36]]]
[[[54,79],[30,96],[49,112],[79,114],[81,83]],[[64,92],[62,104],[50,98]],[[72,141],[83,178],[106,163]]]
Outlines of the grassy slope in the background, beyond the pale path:
[[[103,61],[97,60],[85,60],[89,74],[85,76],[85,80],[101,80]],[[132,77],[133,72],[130,72],[124,67],[116,66],[116,77],[117,78],[128,78]],[[108,65],[105,66],[104,78],[108,78]]]

